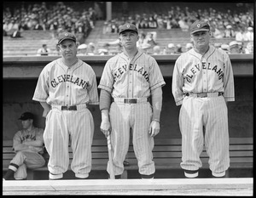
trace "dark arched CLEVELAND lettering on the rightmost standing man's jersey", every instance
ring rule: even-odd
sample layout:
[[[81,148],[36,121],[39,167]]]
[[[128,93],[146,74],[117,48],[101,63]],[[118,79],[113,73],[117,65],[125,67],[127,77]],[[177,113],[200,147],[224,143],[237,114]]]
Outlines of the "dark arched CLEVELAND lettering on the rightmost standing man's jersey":
[[[198,71],[202,70],[208,70],[208,71],[215,71],[215,73],[218,75],[218,80],[221,80],[224,76],[224,72],[222,71],[221,68],[218,68],[218,65],[214,65],[213,67],[211,66],[211,63],[208,63],[208,65],[205,62],[201,63],[202,66],[200,66],[200,64],[197,64],[195,66],[193,66],[190,70],[189,70],[189,74],[186,74],[185,78],[187,80],[187,82],[191,82],[192,78],[199,74]]]

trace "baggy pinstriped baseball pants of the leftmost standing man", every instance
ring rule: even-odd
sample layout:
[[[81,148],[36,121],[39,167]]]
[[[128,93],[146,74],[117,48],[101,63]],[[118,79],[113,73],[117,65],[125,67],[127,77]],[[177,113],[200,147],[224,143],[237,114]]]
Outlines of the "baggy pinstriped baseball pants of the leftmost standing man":
[[[46,117],[44,144],[49,153],[49,178],[62,178],[69,166],[68,144],[71,142],[71,169],[77,178],[87,178],[91,170],[93,117],[86,107],[80,110],[53,108]]]

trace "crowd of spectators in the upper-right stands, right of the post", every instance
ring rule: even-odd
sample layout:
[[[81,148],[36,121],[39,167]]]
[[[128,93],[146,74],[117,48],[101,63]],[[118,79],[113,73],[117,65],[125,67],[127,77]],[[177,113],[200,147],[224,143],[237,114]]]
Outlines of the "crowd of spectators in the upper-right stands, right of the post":
[[[216,38],[236,37],[237,41],[253,41],[253,8],[247,12],[236,13],[236,10],[228,9],[221,12],[213,8],[190,10],[188,7],[171,7],[166,14],[134,14],[123,16],[120,19],[106,21],[103,26],[103,33],[116,33],[119,26],[125,22],[137,25],[138,29],[181,29],[189,31],[189,26],[195,20],[207,20],[212,26],[213,36]]]

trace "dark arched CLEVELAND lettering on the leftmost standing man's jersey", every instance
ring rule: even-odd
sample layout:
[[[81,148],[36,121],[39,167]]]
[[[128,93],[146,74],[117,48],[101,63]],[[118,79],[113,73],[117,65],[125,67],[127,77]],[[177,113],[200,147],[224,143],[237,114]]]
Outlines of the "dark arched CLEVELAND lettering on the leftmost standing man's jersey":
[[[79,77],[74,77],[71,75],[60,75],[55,77],[51,82],[51,86],[53,88],[55,88],[58,84],[60,84],[61,82],[72,82],[74,84],[77,84],[78,86],[82,87],[82,88],[87,88],[90,87],[89,82],[84,81],[83,79],[79,79]]]

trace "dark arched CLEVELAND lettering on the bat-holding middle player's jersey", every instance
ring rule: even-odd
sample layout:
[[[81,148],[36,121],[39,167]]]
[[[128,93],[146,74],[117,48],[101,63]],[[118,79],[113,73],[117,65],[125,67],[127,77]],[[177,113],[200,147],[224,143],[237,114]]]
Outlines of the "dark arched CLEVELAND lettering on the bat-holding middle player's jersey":
[[[146,81],[148,82],[148,72],[144,70],[143,66],[139,66],[137,64],[129,65],[129,71],[137,71],[138,74],[144,76]],[[127,71],[127,65],[121,65],[114,73],[113,73],[113,81],[116,82],[117,78],[120,78]]]

